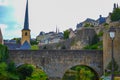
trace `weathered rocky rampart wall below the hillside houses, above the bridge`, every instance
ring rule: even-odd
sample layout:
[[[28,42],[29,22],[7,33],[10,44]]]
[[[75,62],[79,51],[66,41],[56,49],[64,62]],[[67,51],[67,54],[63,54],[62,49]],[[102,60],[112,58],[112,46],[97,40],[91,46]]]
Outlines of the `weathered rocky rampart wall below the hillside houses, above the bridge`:
[[[40,46],[40,49],[70,49],[70,50],[79,50],[85,47],[86,45],[92,43],[96,32],[94,28],[82,28],[78,30],[76,36],[65,41],[47,44]]]

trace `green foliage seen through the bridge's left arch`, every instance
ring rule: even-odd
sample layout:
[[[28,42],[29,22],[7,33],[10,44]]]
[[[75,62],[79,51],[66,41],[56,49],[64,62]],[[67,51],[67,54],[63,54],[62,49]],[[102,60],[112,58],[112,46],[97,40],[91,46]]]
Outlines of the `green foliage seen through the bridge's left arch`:
[[[20,80],[47,80],[45,72],[30,64],[24,64],[17,68]]]

